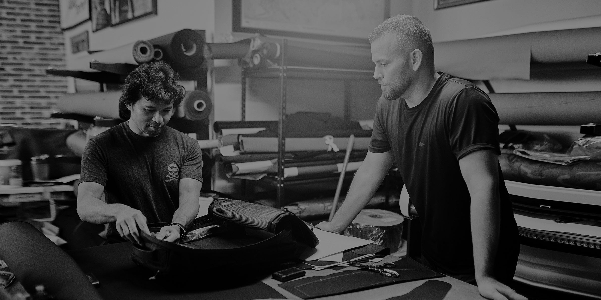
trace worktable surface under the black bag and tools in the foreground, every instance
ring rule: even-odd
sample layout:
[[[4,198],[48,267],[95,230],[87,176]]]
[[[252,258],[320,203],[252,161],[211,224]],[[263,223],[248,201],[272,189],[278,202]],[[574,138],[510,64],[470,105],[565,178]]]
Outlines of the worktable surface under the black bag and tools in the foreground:
[[[250,300],[250,299],[300,299],[278,286],[270,276],[263,280],[254,280],[244,283],[243,278],[236,278],[235,270],[231,278],[222,278],[229,283],[238,283],[237,286],[225,288],[211,285],[204,290],[173,290],[161,286],[159,280],[148,280],[152,272],[136,266],[131,259],[132,245],[129,242],[102,245],[70,251],[70,256],[78,263],[84,273],[91,272],[100,281],[98,292],[104,299],[212,299],[212,300]],[[210,259],[210,257],[207,257]],[[307,271],[307,276],[328,275],[335,271],[325,269],[322,271]],[[301,277],[302,278],[302,277]],[[484,299],[478,289],[471,284],[463,283],[451,277],[435,278],[433,280],[445,281],[451,284],[451,290],[444,300],[470,300]],[[394,296],[404,295],[427,280],[409,281],[389,286],[376,287],[359,292],[344,293],[341,295],[314,298],[320,300],[353,300],[374,299],[385,300]],[[203,284],[199,282],[198,284]]]

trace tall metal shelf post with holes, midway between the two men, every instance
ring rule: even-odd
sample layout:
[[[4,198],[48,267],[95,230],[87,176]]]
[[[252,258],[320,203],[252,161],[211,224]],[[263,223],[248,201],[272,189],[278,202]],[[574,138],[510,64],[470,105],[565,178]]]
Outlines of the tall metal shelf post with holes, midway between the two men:
[[[286,121],[286,46],[288,41],[282,39],[282,53],[279,61],[279,119],[278,119],[278,190],[277,201],[278,208],[282,207],[282,199],[284,199],[284,168],[285,168],[285,152],[286,139],[284,137],[284,124]]]

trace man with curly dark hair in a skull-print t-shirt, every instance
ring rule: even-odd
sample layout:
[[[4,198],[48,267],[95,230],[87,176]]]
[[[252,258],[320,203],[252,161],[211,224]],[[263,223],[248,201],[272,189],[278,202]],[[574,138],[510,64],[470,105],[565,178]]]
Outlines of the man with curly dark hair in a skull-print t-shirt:
[[[127,120],[93,137],[82,156],[77,211],[109,224],[109,242],[141,244],[147,223],[165,222],[158,239],[173,242],[198,215],[203,184],[200,146],[165,124],[182,103],[178,74],[165,62],[140,65],[119,99]]]

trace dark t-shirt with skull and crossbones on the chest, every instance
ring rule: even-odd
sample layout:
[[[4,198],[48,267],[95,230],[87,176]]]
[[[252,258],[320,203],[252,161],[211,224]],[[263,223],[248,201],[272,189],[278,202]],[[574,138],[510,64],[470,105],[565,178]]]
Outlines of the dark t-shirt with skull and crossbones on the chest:
[[[106,203],[138,209],[148,223],[169,222],[179,205],[179,179],[203,181],[197,141],[171,127],[142,137],[123,122],[92,137],[85,146],[79,182],[105,187]],[[117,238],[114,223],[108,236]]]

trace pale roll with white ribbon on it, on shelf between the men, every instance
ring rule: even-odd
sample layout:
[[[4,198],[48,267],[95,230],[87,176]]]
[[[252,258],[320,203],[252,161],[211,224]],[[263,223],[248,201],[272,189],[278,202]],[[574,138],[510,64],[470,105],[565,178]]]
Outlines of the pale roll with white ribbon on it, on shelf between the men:
[[[277,137],[240,136],[241,152],[276,152],[278,151]],[[346,150],[349,137],[287,137],[286,151],[328,151],[336,148]],[[354,150],[367,149],[371,137],[355,137]],[[336,146],[336,148],[334,148]]]

